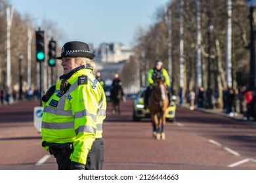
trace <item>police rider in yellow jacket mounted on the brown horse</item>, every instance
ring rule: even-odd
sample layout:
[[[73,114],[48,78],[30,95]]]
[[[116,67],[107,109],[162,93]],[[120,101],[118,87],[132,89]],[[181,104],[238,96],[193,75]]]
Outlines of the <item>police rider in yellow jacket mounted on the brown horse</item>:
[[[170,78],[166,71],[166,69],[163,68],[163,62],[161,60],[156,60],[154,67],[148,71],[147,74],[147,85],[144,96],[144,108],[148,107],[148,98],[150,97],[150,94],[152,93],[152,90],[154,89],[154,86],[156,85],[156,80],[161,79],[165,80],[165,84],[167,85],[167,88],[170,87]],[[170,98],[170,92],[168,93]]]

